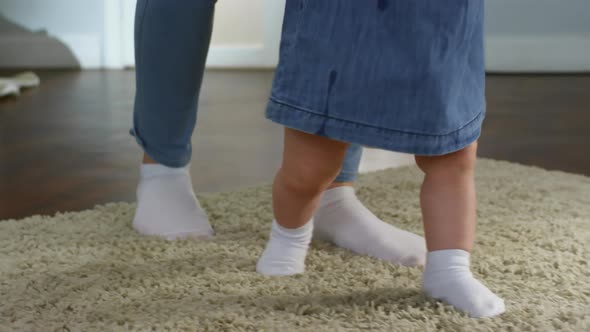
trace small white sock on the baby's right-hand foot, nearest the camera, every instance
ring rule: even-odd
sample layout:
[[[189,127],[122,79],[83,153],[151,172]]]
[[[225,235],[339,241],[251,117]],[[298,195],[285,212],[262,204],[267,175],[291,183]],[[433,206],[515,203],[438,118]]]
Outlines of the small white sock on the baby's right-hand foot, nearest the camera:
[[[504,300],[473,277],[469,253],[464,250],[437,250],[427,255],[422,279],[424,291],[474,318],[503,313]]]

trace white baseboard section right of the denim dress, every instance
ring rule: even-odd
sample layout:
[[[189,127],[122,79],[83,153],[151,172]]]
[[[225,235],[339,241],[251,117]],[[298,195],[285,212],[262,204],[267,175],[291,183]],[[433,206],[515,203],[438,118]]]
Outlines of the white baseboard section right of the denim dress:
[[[486,69],[498,73],[590,72],[590,35],[490,36]]]

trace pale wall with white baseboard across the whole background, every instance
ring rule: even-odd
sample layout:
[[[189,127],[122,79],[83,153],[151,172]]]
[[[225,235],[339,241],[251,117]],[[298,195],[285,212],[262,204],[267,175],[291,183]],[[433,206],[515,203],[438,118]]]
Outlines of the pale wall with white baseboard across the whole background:
[[[118,68],[133,64],[134,3],[135,0],[1,0],[0,12],[28,28],[47,29],[72,49],[85,68]],[[284,0],[220,0],[208,65],[273,66],[283,3]],[[590,0],[485,3],[489,70],[590,71]]]

